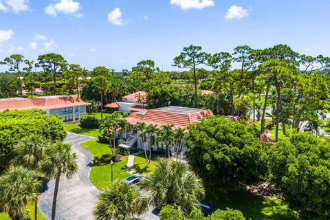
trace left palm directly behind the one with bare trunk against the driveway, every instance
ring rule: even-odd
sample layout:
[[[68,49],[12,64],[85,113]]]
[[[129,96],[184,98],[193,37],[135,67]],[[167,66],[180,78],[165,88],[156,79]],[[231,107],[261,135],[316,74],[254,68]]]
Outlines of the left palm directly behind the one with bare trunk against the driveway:
[[[14,157],[12,162],[15,165],[22,165],[31,170],[39,171],[45,161],[45,151],[49,148],[50,142],[42,135],[32,134],[24,137],[17,146],[14,146]],[[40,176],[38,177],[40,178]],[[34,219],[37,219],[38,200],[34,203]]]

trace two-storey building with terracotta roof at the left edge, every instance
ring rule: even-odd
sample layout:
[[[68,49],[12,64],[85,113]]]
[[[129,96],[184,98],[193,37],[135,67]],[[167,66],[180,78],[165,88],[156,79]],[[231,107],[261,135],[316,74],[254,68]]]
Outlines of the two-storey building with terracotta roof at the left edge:
[[[76,122],[86,113],[84,102],[77,96],[42,96],[32,100],[28,98],[1,98],[0,111],[6,109],[42,109],[47,115],[60,115],[64,122]]]

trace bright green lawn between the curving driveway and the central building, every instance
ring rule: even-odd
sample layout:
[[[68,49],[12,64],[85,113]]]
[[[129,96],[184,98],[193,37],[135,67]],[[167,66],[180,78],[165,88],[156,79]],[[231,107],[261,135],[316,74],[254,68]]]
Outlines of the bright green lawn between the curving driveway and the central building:
[[[89,179],[98,189],[107,188],[111,184],[111,164],[100,162],[100,157],[104,154],[111,154],[109,144],[102,144],[97,139],[90,140],[81,144],[85,149],[94,155],[94,162],[89,174]],[[113,164],[113,180],[125,179],[130,174],[126,172],[126,164],[128,157],[124,157],[122,161]]]

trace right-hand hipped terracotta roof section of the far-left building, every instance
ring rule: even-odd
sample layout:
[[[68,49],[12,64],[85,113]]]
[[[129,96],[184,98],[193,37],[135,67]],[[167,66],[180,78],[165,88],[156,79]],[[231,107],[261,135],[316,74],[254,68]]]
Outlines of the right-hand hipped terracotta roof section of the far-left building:
[[[78,96],[42,96],[32,99],[38,109],[59,109],[90,104]]]

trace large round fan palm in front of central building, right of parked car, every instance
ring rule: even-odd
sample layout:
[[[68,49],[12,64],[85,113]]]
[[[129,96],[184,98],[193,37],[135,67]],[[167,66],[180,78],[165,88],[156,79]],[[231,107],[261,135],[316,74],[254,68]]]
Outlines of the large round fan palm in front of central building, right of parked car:
[[[188,212],[198,208],[205,195],[201,179],[186,162],[166,158],[157,160],[155,171],[144,178],[142,187],[149,191],[148,201],[159,209],[170,204]]]

